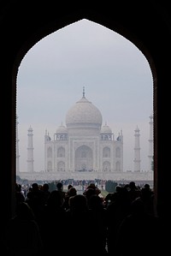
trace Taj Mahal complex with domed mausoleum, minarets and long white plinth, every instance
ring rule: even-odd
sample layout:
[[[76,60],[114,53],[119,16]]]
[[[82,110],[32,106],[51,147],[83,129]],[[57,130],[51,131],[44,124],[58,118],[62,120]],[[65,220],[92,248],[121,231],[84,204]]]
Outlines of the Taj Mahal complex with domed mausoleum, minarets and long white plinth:
[[[27,172],[20,172],[16,150],[16,171],[28,180],[115,180],[152,181],[153,171],[140,171],[139,128],[135,128],[134,170],[123,171],[123,134],[114,135],[103,124],[100,110],[83,95],[67,112],[65,125],[56,129],[53,137],[44,134],[44,171],[33,169],[32,128],[28,128]],[[149,163],[153,158],[153,121],[150,116]],[[19,141],[19,140],[17,140]],[[19,146],[16,143],[17,149]]]

